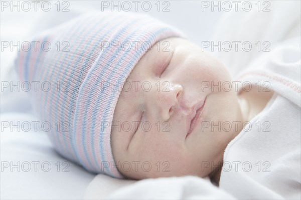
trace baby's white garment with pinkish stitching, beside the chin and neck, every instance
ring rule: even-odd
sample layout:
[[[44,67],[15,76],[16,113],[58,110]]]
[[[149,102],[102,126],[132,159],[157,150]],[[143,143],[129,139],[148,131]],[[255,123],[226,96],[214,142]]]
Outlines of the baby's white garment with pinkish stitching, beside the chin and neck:
[[[301,198],[300,55],[297,38],[239,76],[263,88],[269,83],[275,93],[225,149],[220,188],[237,198]]]

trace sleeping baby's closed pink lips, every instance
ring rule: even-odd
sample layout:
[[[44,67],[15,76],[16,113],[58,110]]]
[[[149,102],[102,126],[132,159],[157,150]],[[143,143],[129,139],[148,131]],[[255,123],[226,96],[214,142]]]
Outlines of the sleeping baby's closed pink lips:
[[[197,104],[195,104],[192,109],[191,112],[189,113],[189,115],[187,116],[187,134],[186,137],[194,130],[194,128],[198,125],[198,119],[200,118],[200,115],[202,114],[204,105],[205,105],[205,101],[206,98],[201,101],[198,102]],[[198,116],[196,116],[198,114]],[[192,122],[193,122],[193,126],[192,126]]]

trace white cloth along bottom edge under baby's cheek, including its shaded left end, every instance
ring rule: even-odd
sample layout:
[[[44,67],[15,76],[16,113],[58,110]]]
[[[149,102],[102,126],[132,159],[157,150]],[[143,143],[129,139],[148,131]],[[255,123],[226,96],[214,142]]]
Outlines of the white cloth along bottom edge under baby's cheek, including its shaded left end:
[[[98,174],[90,183],[85,199],[235,199],[231,194],[212,185],[209,178],[183,176],[134,181],[103,176]],[[115,188],[107,186],[112,183]],[[114,191],[122,185],[122,188]]]

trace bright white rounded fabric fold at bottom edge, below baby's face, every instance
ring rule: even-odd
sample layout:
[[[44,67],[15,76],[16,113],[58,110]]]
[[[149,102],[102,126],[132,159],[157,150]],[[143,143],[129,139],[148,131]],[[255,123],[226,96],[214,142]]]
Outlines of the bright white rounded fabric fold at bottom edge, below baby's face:
[[[140,180],[123,187],[108,199],[236,199],[209,179],[196,176]]]

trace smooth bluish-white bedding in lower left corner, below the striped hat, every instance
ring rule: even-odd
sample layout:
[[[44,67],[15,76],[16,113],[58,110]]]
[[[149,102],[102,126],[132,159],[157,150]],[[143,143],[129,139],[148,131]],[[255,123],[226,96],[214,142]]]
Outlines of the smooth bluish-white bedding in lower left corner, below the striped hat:
[[[20,103],[20,102],[19,102]],[[38,121],[27,113],[3,113],[1,121],[31,124]],[[21,126],[19,126],[21,127]],[[47,135],[3,127],[1,146],[1,199],[81,199],[94,174],[59,156]]]

